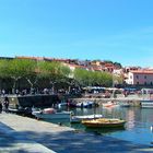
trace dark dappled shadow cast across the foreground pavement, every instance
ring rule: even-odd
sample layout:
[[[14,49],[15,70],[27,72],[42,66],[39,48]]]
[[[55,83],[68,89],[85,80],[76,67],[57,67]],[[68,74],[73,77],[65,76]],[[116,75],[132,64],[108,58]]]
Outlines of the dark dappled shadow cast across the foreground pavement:
[[[0,148],[11,148],[15,143],[33,143],[34,141],[58,153],[109,153],[109,152],[137,152],[137,149],[149,148],[137,145],[101,134],[86,133],[82,131],[63,132],[32,132],[14,131],[0,122]],[[35,148],[35,145],[33,145]],[[26,150],[17,150],[26,152]],[[140,153],[140,151],[138,151]],[[145,152],[145,151],[143,151]]]

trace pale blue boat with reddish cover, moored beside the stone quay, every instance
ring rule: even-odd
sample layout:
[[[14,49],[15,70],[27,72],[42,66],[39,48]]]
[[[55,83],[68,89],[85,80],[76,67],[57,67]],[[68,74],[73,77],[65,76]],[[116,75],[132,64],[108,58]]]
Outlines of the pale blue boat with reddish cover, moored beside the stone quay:
[[[43,110],[33,110],[37,119],[70,119],[72,111],[57,111],[55,108],[46,108]]]

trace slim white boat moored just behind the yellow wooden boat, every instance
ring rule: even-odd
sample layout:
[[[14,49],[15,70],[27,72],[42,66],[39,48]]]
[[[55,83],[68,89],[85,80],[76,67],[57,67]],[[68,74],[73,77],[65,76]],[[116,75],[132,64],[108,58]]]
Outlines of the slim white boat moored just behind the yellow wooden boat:
[[[103,118],[103,115],[85,115],[85,116],[72,116],[70,122],[71,123],[79,123],[83,119],[97,119],[97,118]]]

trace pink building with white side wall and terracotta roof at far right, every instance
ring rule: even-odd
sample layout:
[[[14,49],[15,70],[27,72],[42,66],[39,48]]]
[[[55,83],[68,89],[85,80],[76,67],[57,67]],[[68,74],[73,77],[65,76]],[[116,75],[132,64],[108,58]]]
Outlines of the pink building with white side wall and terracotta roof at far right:
[[[126,83],[131,85],[153,85],[153,70],[129,71]]]

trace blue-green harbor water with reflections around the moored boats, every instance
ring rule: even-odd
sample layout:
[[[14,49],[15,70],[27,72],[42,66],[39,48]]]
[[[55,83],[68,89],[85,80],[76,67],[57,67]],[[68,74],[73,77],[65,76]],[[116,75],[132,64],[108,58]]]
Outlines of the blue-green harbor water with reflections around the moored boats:
[[[111,108],[62,108],[63,110],[72,110],[74,115],[92,115],[102,114],[106,118],[121,118],[125,119],[126,126],[121,129],[86,129],[81,123],[70,123],[69,120],[46,120],[54,123],[62,123],[75,128],[76,130],[95,132],[103,136],[109,136],[120,140],[127,140],[138,144],[151,144],[153,141],[153,133],[151,126],[153,125],[153,109],[141,107],[111,107]]]

